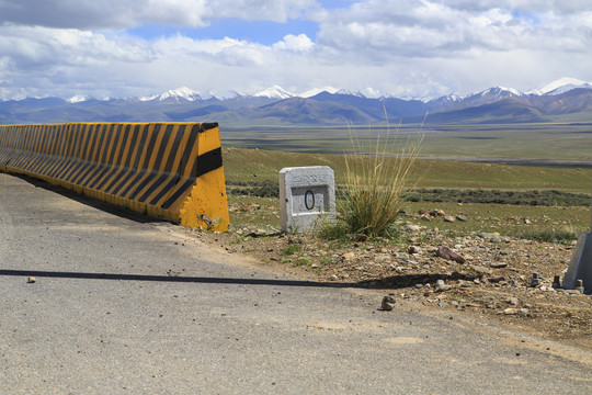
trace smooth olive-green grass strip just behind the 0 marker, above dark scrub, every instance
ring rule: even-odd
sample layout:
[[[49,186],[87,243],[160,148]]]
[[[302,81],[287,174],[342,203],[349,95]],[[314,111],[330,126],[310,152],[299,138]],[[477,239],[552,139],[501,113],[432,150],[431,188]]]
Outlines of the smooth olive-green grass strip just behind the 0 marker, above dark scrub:
[[[228,182],[276,181],[278,171],[285,167],[329,166],[335,172],[335,183],[344,183],[343,155],[225,147],[223,157]],[[418,159],[410,179],[418,181],[417,188],[590,193],[592,170]]]

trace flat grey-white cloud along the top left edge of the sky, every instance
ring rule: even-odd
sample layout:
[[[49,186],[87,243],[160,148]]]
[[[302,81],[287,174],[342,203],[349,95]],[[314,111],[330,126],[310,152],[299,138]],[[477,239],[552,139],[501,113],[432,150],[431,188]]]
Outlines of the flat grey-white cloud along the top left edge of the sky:
[[[0,0],[0,24],[82,30],[143,23],[204,26],[224,18],[285,22],[318,8],[316,0]]]

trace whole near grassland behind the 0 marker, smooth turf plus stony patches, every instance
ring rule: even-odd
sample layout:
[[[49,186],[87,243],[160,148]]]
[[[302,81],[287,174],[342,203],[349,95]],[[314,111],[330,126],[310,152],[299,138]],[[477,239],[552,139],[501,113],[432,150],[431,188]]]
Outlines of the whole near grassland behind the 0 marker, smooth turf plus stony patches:
[[[278,142],[280,144],[281,142]],[[343,143],[345,146],[345,143]],[[523,148],[525,150],[525,148]],[[243,188],[269,187],[277,189],[278,171],[285,167],[329,166],[335,172],[335,183],[343,185],[345,161],[337,154],[299,154],[283,150],[244,149],[225,146],[223,148],[225,177],[228,190],[236,185]],[[386,160],[396,160],[387,158]],[[579,233],[590,232],[590,190],[592,169],[567,167],[528,167],[496,163],[475,163],[453,160],[418,159],[410,179],[417,181],[413,201],[405,202],[408,213],[419,210],[443,210],[451,215],[465,215],[467,222],[432,222],[402,217],[429,228],[439,228],[452,235],[467,235],[475,232],[499,233],[501,235],[544,241],[571,242]],[[239,187],[240,188],[240,187]],[[440,191],[440,192],[439,192]],[[513,204],[473,203],[467,194],[499,194],[497,191],[516,191],[522,202]],[[565,196],[558,204],[532,204],[542,201],[543,195],[559,191],[578,194],[579,200]],[[539,193],[540,192],[540,193]],[[549,192],[549,193],[547,193]],[[442,200],[434,200],[434,194]],[[463,193],[465,196],[463,196]],[[540,196],[536,195],[537,193]],[[430,194],[430,199],[428,195]],[[508,195],[504,199],[509,202]],[[582,194],[587,196],[582,198]],[[418,199],[419,196],[419,199]],[[458,198],[460,196],[460,198]],[[459,203],[462,202],[462,203]],[[567,203],[566,203],[567,202]],[[577,202],[577,203],[571,203]],[[259,229],[280,228],[277,198],[249,196],[230,193],[230,219],[232,227]],[[243,207],[242,210],[240,207]]]

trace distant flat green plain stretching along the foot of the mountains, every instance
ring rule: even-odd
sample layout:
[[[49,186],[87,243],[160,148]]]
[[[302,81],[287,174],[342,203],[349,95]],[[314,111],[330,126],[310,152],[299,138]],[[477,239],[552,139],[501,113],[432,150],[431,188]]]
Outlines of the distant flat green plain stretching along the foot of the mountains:
[[[342,154],[351,148],[352,137],[368,143],[373,153],[378,134],[401,143],[423,135],[421,155],[430,157],[592,160],[590,123],[223,128],[221,139],[225,146],[240,148]]]

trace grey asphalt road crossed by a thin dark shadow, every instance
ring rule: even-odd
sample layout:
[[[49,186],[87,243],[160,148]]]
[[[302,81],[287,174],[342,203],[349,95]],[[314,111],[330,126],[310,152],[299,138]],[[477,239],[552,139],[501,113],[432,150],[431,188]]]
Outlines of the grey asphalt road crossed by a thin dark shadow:
[[[0,394],[592,393],[577,358],[380,298],[0,173]]]

